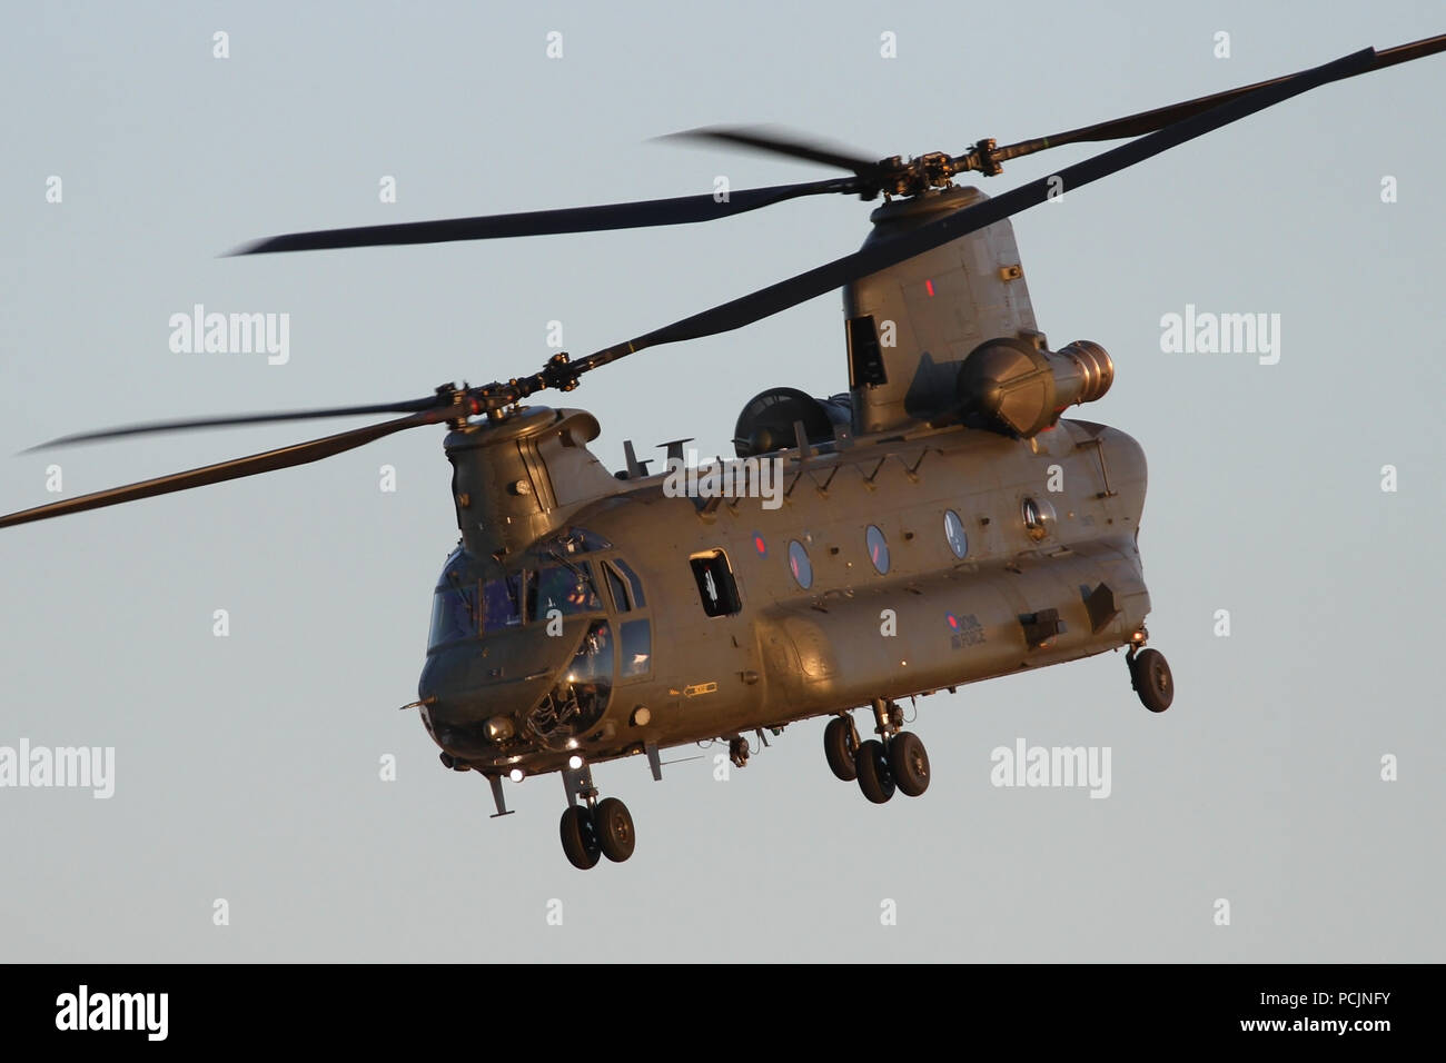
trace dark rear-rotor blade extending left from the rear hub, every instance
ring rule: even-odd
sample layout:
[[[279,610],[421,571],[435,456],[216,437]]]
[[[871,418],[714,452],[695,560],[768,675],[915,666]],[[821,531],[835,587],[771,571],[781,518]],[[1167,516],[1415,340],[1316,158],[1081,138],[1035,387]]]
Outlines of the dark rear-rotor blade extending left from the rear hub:
[[[497,240],[515,236],[555,236],[558,233],[597,233],[609,229],[651,226],[687,226],[697,221],[743,214],[804,195],[856,192],[853,178],[808,181],[797,185],[771,185],[729,192],[722,202],[713,195],[683,195],[672,200],[615,202],[599,207],[565,207],[523,214],[489,214],[444,221],[406,221],[396,226],[359,226],[322,229],[314,233],[286,233],[241,244],[227,255],[270,255],[275,252],[311,252],[334,247],[380,247],[408,243],[450,243],[453,240]]]

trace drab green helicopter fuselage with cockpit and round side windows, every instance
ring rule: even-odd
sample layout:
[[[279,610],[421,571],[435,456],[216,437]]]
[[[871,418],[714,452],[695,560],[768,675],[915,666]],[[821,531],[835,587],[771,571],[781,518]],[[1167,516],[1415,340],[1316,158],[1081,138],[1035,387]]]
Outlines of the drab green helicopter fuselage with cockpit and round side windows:
[[[777,463],[774,498],[703,499],[667,474],[604,489],[578,473],[583,456],[596,464],[580,417],[536,412],[548,431],[574,425],[557,443],[594,498],[497,473],[505,454],[547,477],[558,447],[529,461],[512,438],[484,445],[490,424],[448,440],[463,544],[419,693],[457,767],[536,774],[779,727],[1118,648],[1150,610],[1145,460],[1113,428],[792,448],[761,458]],[[497,502],[480,506],[487,490]],[[545,522],[523,512],[538,493]]]

